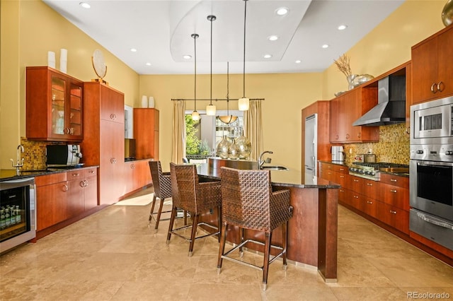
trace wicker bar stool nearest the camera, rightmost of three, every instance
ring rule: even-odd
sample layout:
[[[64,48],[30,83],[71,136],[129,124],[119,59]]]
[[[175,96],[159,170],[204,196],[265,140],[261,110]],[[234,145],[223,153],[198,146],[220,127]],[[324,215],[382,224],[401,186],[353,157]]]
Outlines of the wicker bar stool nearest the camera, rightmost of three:
[[[263,271],[263,290],[268,284],[269,264],[278,257],[283,259],[283,268],[287,267],[287,226],[292,217],[292,206],[289,205],[289,190],[272,191],[269,170],[236,170],[221,167],[222,177],[222,231],[217,260],[217,273],[222,268],[222,260],[227,259],[239,264],[258,268]],[[236,247],[225,252],[226,227],[239,227],[240,239]],[[282,245],[271,244],[272,232],[282,226]],[[265,242],[244,240],[243,229],[265,232]],[[250,264],[246,261],[229,256],[239,249],[243,254],[243,246],[248,243],[264,246],[263,266]],[[280,252],[270,258],[270,249]]]

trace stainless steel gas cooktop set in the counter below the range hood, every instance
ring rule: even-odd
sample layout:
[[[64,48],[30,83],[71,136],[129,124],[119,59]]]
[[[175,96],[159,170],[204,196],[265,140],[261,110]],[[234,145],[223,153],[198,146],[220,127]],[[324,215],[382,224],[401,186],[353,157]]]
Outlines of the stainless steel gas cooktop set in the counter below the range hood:
[[[398,172],[401,174],[408,173],[408,165],[396,164],[396,163],[363,163],[363,162],[354,162],[349,167],[349,174],[355,175],[357,177],[363,177],[365,179],[372,179],[374,181],[379,181],[380,172]]]

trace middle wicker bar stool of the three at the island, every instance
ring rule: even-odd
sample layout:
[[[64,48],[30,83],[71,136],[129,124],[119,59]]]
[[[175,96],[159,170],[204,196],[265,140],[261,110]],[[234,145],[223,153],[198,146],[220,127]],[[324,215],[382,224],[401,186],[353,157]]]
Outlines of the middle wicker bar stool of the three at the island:
[[[171,212],[170,225],[168,226],[167,244],[170,243],[172,234],[182,237],[190,242],[189,256],[192,256],[195,240],[210,235],[220,234],[220,218],[222,216],[222,209],[220,207],[222,203],[220,195],[220,181],[200,183],[198,181],[197,168],[193,164],[176,165],[174,163],[170,163],[170,173],[172,177],[171,185],[174,193],[173,211]],[[201,213],[205,213],[206,211],[210,211],[216,207],[219,209],[219,221],[217,227],[207,223],[198,222],[198,218]],[[173,229],[177,208],[183,208],[185,211],[190,213],[190,216],[193,219],[192,225],[185,225],[183,227]],[[205,225],[214,229],[215,232],[197,237],[198,225]],[[192,228],[190,237],[180,234],[180,230],[185,230],[187,228]]]

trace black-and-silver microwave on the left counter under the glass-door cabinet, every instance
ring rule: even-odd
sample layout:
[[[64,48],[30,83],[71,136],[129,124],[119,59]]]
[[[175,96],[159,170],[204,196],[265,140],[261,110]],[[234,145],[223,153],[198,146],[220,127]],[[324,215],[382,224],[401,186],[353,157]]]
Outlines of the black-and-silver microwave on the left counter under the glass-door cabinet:
[[[46,146],[46,156],[48,167],[66,167],[80,165],[82,153],[79,144],[52,144]]]

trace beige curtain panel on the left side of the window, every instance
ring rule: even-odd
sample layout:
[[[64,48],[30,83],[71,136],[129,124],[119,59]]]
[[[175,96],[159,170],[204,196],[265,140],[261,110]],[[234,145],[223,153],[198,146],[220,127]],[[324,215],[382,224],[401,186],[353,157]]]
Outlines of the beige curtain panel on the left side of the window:
[[[171,162],[182,164],[185,158],[185,102],[173,100],[173,125],[172,125]]]

